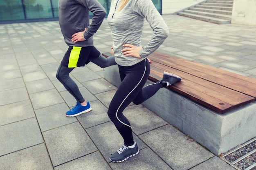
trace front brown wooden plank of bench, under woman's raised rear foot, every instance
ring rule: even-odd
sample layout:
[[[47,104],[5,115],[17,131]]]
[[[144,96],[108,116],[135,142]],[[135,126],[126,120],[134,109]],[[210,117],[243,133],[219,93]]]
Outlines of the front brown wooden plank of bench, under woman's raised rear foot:
[[[162,79],[163,71],[159,72],[159,68],[156,71],[155,69],[156,68],[152,65],[151,72],[154,75],[157,75],[158,73],[157,77],[154,77],[154,79],[159,81]],[[163,70],[170,71],[183,78],[181,82],[177,82],[168,88],[194,100],[195,102],[207,106],[218,113],[226,113],[233,108],[243,106],[255,100],[254,97],[211,83],[207,80],[200,79],[199,77],[193,77],[193,75],[188,75],[177,70],[175,71],[173,68],[169,70],[167,69],[168,67],[163,68]],[[151,73],[150,76],[152,76]]]

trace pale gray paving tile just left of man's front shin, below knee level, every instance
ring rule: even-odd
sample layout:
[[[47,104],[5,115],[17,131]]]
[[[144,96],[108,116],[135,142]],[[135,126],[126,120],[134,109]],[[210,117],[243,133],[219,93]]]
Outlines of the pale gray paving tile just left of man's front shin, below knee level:
[[[26,86],[29,94],[54,89],[54,86],[49,79],[40,79],[33,82],[27,82]]]

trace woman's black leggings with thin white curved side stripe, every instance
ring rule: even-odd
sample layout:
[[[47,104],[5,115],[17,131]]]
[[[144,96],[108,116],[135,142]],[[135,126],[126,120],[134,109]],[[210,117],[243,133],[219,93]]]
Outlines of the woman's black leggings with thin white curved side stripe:
[[[141,104],[163,87],[163,83],[158,82],[143,88],[149,73],[150,65],[147,59],[133,66],[119,66],[121,84],[110,102],[108,116],[128,146],[134,144],[134,141],[130,122],[123,115],[124,109],[131,102]]]

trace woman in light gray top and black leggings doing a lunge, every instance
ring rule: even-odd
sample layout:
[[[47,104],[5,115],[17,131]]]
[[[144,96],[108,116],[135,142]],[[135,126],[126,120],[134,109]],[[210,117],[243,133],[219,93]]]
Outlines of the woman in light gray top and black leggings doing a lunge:
[[[141,46],[144,20],[153,29],[146,46]],[[112,31],[113,50],[119,67],[121,84],[115,93],[108,116],[124,139],[124,145],[110,156],[113,162],[122,162],[139,153],[133,140],[131,125],[123,110],[131,103],[141,104],[160,88],[181,81],[177,75],[164,72],[163,79],[145,86],[150,73],[147,56],[168,37],[168,27],[151,0],[112,0],[108,24]]]

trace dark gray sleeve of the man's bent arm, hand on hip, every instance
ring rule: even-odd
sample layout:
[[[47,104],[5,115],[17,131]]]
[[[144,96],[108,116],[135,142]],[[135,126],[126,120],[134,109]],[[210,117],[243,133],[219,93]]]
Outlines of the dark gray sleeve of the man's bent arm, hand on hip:
[[[85,31],[83,34],[83,37],[85,40],[87,40],[92,35],[94,35],[94,33],[96,33],[101,26],[101,23],[103,22],[106,15],[106,10],[97,0],[83,0],[83,2],[86,3],[89,11],[93,13],[92,22],[86,28],[87,31]]]

